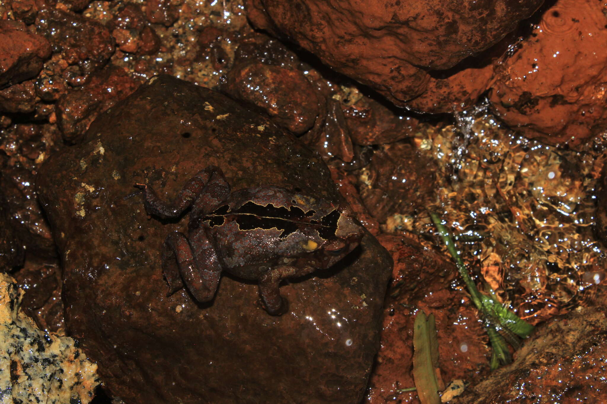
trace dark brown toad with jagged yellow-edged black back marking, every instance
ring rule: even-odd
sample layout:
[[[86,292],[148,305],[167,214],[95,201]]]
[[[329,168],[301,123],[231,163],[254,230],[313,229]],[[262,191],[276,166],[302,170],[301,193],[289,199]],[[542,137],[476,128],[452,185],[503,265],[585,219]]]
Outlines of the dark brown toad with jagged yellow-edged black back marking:
[[[185,286],[198,302],[211,300],[223,270],[257,280],[271,315],[288,311],[279,283],[326,269],[359,245],[363,236],[349,207],[302,195],[295,188],[263,186],[231,192],[220,168],[188,180],[172,202],[144,184],[148,214],[168,219],[188,208],[188,235],[164,240],[162,268],[168,296]]]

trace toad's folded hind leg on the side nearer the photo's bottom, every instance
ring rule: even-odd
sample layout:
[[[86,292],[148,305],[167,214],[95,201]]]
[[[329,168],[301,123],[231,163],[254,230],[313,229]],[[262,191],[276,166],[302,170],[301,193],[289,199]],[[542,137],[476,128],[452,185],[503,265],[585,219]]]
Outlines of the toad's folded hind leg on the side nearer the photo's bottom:
[[[194,299],[202,303],[215,295],[221,267],[211,243],[202,230],[200,233],[191,234],[192,244],[183,233],[169,234],[164,240],[162,269],[169,283],[168,295],[185,284]]]

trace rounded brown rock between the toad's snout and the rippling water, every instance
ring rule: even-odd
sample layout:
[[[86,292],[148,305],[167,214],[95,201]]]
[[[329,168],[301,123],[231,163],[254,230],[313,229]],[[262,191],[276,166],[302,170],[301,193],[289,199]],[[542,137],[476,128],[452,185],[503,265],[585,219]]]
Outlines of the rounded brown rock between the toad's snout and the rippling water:
[[[436,164],[405,143],[384,145],[371,157],[362,200],[380,223],[390,214],[413,214],[435,193]]]

